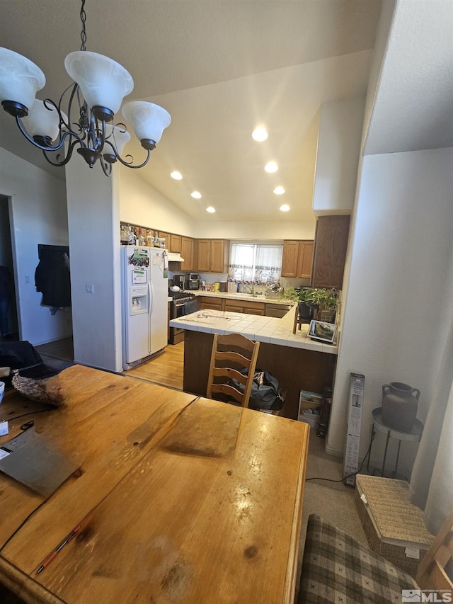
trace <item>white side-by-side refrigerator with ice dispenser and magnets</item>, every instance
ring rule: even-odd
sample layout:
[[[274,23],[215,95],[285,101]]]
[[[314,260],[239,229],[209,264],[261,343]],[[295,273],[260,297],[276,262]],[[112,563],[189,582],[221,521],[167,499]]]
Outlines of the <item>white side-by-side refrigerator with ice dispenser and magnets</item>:
[[[121,246],[122,366],[143,363],[168,338],[168,252]]]

